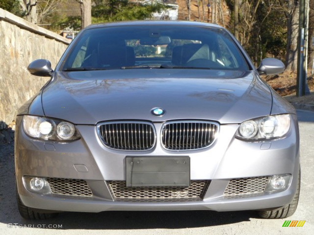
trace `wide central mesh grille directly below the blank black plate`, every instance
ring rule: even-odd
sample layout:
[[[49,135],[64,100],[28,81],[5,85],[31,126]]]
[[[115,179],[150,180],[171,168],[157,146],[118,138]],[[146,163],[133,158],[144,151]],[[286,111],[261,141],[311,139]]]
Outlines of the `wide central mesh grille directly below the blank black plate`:
[[[203,198],[210,181],[191,180],[190,187],[126,187],[125,181],[107,181],[112,196],[119,199]]]

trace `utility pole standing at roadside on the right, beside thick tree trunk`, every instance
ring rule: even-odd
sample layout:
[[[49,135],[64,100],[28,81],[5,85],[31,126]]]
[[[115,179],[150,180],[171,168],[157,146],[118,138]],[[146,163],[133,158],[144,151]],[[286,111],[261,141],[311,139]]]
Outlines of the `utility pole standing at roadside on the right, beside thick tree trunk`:
[[[297,91],[298,97],[309,93],[307,86],[307,41],[308,41],[308,10],[309,0],[300,0],[299,36],[298,36],[298,65],[297,65]]]

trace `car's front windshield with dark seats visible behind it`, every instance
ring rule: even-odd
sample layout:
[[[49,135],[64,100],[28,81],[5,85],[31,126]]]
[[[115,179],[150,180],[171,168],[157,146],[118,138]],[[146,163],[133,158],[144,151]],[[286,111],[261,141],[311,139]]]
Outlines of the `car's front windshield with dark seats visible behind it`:
[[[249,70],[226,30],[174,25],[87,29],[62,65],[63,71],[137,68]]]

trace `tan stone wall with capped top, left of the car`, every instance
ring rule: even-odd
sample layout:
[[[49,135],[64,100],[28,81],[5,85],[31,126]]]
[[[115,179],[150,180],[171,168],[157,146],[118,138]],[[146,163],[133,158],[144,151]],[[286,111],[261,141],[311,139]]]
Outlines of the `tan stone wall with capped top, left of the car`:
[[[0,129],[49,80],[32,76],[30,62],[47,59],[54,68],[68,44],[68,39],[0,8]]]

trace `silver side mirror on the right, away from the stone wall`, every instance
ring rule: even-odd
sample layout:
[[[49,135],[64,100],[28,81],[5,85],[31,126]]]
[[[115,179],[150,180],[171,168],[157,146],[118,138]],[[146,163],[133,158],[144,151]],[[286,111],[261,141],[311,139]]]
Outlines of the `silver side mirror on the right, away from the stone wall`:
[[[276,75],[282,73],[284,69],[284,63],[281,60],[275,58],[265,58],[257,68],[257,71],[260,75]]]

